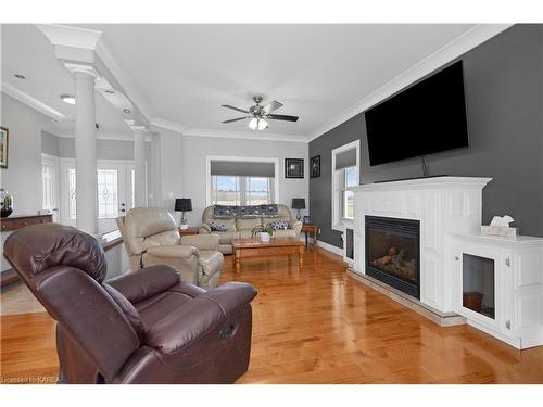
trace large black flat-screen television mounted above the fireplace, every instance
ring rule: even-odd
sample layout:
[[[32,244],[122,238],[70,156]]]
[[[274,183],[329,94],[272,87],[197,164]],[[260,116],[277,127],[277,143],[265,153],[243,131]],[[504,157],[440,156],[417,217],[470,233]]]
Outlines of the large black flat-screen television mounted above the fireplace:
[[[369,164],[468,147],[462,61],[366,112]]]

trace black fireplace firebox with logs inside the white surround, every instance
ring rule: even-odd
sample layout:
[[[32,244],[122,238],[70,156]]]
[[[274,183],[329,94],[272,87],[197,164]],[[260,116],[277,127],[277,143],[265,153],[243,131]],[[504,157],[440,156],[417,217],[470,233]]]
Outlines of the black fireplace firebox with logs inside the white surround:
[[[420,222],[366,216],[366,275],[420,298]]]

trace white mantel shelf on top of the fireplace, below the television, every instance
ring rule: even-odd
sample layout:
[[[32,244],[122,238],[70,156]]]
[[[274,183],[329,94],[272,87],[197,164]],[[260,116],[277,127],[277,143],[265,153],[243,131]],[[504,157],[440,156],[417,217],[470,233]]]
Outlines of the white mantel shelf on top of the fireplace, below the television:
[[[363,183],[356,187],[348,188],[350,191],[386,191],[399,189],[431,189],[431,188],[447,188],[447,187],[479,187],[483,188],[492,178],[483,177],[427,177],[404,179],[397,181],[383,181],[374,183]]]

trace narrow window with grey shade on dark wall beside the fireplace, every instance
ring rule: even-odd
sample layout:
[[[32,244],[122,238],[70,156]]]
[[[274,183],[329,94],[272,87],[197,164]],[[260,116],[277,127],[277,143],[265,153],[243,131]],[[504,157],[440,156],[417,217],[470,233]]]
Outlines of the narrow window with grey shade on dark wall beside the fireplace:
[[[359,140],[332,150],[332,229],[343,231],[354,219],[354,194],[358,185]]]

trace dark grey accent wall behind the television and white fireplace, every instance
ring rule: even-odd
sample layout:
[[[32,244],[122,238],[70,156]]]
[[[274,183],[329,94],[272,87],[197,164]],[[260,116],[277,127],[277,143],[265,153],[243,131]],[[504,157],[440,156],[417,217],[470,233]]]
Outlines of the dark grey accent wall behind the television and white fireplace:
[[[516,25],[459,59],[470,147],[430,155],[430,174],[492,177],[483,189],[483,222],[508,214],[522,234],[543,237],[543,25]],[[313,140],[310,156],[320,154],[321,176],[310,180],[311,215],[320,239],[336,246],[331,150],[356,139],[362,183],[421,176],[419,160],[369,166],[364,113]]]

